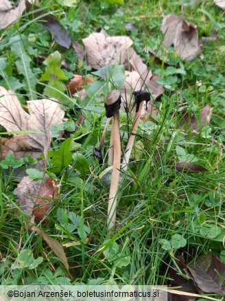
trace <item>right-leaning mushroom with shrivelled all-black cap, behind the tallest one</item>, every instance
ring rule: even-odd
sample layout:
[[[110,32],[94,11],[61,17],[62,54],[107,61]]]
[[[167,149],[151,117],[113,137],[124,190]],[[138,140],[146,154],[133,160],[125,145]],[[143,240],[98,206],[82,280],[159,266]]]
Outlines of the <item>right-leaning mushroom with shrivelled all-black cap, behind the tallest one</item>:
[[[150,101],[150,93],[148,93],[147,91],[144,91],[144,90],[134,91],[133,94],[134,94],[134,100],[135,100],[134,105],[136,104],[137,107],[136,107],[136,111],[135,111],[135,115],[134,115],[134,121],[132,124],[132,131],[130,133],[128,144],[126,146],[125,154],[123,157],[123,162],[121,164],[121,169],[123,170],[123,172],[126,172],[126,170],[128,169],[128,163],[129,163],[132,147],[134,144],[135,135],[137,133],[137,127],[139,125],[143,101],[145,100],[145,102],[146,102],[146,109],[147,109],[147,102]]]

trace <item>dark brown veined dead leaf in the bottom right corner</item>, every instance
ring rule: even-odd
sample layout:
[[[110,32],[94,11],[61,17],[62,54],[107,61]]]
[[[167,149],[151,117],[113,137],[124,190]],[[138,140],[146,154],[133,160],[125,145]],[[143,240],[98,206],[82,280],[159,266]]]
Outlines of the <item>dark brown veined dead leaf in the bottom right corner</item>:
[[[199,256],[188,268],[202,291],[225,296],[225,265],[217,256],[211,253]]]

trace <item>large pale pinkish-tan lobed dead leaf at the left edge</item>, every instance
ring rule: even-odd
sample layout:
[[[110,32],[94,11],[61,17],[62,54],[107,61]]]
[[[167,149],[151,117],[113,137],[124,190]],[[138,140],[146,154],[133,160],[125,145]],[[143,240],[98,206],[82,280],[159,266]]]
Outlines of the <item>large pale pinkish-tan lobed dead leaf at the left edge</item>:
[[[43,99],[30,100],[27,102],[29,114],[21,107],[21,103],[14,91],[7,91],[0,87],[0,124],[7,131],[37,131],[16,135],[5,142],[1,153],[7,155],[14,153],[16,158],[25,154],[36,157],[49,147],[51,143],[49,128],[51,124],[62,122],[64,111],[58,102]],[[50,137],[50,138],[49,138]]]

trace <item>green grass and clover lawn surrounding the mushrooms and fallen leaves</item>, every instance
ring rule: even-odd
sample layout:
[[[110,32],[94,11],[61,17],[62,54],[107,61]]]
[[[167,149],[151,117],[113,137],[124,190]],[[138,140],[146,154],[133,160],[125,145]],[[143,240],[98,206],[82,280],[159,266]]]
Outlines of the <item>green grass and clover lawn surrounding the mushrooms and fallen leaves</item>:
[[[185,1],[185,3],[188,1]],[[154,74],[164,75],[165,69],[158,65],[144,47],[158,50],[158,55],[165,57],[161,41],[161,21],[169,13],[180,16],[180,1],[134,1],[124,5],[108,5],[106,2],[80,1],[76,8],[64,8],[51,1],[40,1],[40,6],[47,11],[54,11],[62,25],[71,34],[72,41],[82,42],[98,27],[104,28],[110,35],[128,34],[134,41],[135,51],[141,55],[144,63]],[[185,263],[195,260],[201,254],[213,252],[220,256],[224,233],[224,176],[225,166],[222,161],[224,144],[224,14],[213,1],[202,1],[200,5],[185,7],[185,18],[198,26],[200,36],[211,34],[219,29],[214,42],[202,46],[202,54],[191,63],[185,63],[169,50],[168,60],[175,62],[176,68],[185,69],[186,75],[178,76],[177,82],[166,89],[156,102],[160,114],[157,122],[140,122],[136,145],[142,146],[141,154],[136,153],[129,166],[129,175],[118,195],[117,224],[115,230],[107,235],[107,206],[109,186],[100,176],[107,167],[93,158],[93,147],[101,139],[104,129],[103,104],[95,109],[90,104],[86,110],[84,124],[73,135],[80,144],[79,152],[88,162],[88,170],[83,174],[76,172],[75,163],[63,170],[49,175],[61,184],[60,193],[49,213],[47,224],[39,223],[44,232],[56,238],[62,244],[73,243],[64,247],[69,261],[69,279],[62,263],[51,252],[45,241],[35,232],[28,230],[27,216],[16,201],[15,188],[21,175],[14,175],[11,170],[1,169],[0,193],[0,277],[1,283],[10,284],[130,284],[130,285],[165,285],[168,284],[169,269],[176,266],[176,258],[182,256]],[[134,23],[138,30],[126,31],[122,21]],[[25,45],[31,58],[31,69],[37,78],[45,71],[45,65],[36,63],[36,54],[51,54],[58,50],[67,60],[71,72],[90,74],[91,68],[81,64],[73,50],[65,49],[52,42],[51,34],[43,31],[42,25],[23,16],[14,26],[1,33],[1,58],[7,58],[12,64],[10,76],[23,83],[15,65],[15,54],[10,54],[12,36],[25,35],[34,38],[34,42]],[[12,40],[11,40],[12,41]],[[1,66],[0,66],[1,67]],[[9,68],[9,67],[8,67]],[[1,70],[0,70],[1,71]],[[37,93],[43,95],[43,85],[36,85]],[[18,89],[22,103],[27,100],[27,91]],[[97,96],[96,96],[97,97]],[[78,100],[75,100],[76,102]],[[73,100],[74,102],[74,100]],[[180,108],[194,113],[197,117],[206,104],[213,107],[213,117],[208,128],[193,135],[182,131],[179,126]],[[79,100],[78,105],[82,105]],[[80,115],[76,107],[67,107],[67,118],[75,122]],[[91,107],[92,106],[92,107]],[[94,108],[94,109],[93,109]],[[89,111],[89,110],[93,111]],[[123,145],[127,140],[126,114],[121,112],[121,135]],[[132,118],[129,126],[131,129]],[[184,128],[185,129],[185,128]],[[107,154],[110,130],[106,133]],[[58,149],[62,140],[55,140],[52,149]],[[209,169],[209,173],[185,173],[174,169],[178,161],[176,146],[182,146],[187,154],[194,155],[198,164]],[[133,154],[134,155],[134,154]],[[25,166],[26,168],[26,166]],[[217,205],[209,204],[211,199],[219,199]],[[208,202],[208,203],[207,203]],[[208,205],[207,205],[208,204]],[[62,210],[67,212],[62,214]],[[61,210],[61,211],[60,211]],[[79,225],[70,231],[69,212],[75,212]],[[61,215],[60,215],[61,214]],[[202,227],[211,225],[220,228],[219,236],[203,235]],[[86,229],[86,232],[85,232]],[[210,228],[211,229],[211,228]],[[214,228],[213,228],[214,229]],[[201,231],[200,231],[201,230]],[[213,231],[213,230],[212,230]],[[214,229],[215,231],[215,229]],[[86,234],[85,234],[86,233]],[[213,232],[214,233],[214,232]],[[172,244],[175,234],[179,234],[187,243],[183,247],[165,249],[163,241]],[[86,236],[86,237],[85,237]],[[165,241],[164,241],[165,243]],[[103,245],[106,245],[102,249]],[[34,269],[14,267],[16,259],[25,249],[32,250],[34,259],[43,258],[43,262]]]

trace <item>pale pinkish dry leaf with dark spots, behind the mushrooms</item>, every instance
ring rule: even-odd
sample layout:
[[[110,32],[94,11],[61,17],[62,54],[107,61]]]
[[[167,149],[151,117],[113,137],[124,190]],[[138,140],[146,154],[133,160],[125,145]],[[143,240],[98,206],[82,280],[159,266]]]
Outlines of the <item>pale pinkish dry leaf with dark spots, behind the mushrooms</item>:
[[[106,36],[102,32],[83,38],[88,65],[94,69],[113,64],[123,64],[127,60],[132,40],[128,36]]]

